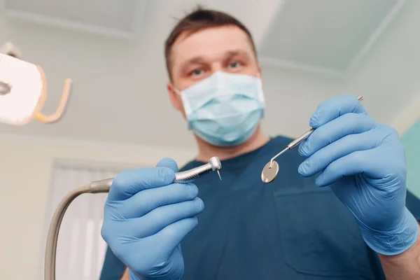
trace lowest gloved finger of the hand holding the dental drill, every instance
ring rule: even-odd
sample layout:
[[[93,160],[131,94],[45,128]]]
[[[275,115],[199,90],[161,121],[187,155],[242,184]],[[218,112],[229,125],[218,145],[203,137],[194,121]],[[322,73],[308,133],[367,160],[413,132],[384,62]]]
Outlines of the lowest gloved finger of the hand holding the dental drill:
[[[160,232],[152,235],[151,237],[146,237],[148,242],[151,244],[160,244],[155,250],[161,250],[158,252],[158,255],[165,255],[167,258],[171,255],[176,246],[178,246],[182,239],[192,232],[198,224],[197,216],[191,218],[184,218],[180,221],[176,221],[170,225],[167,225],[165,228],[160,230]]]

